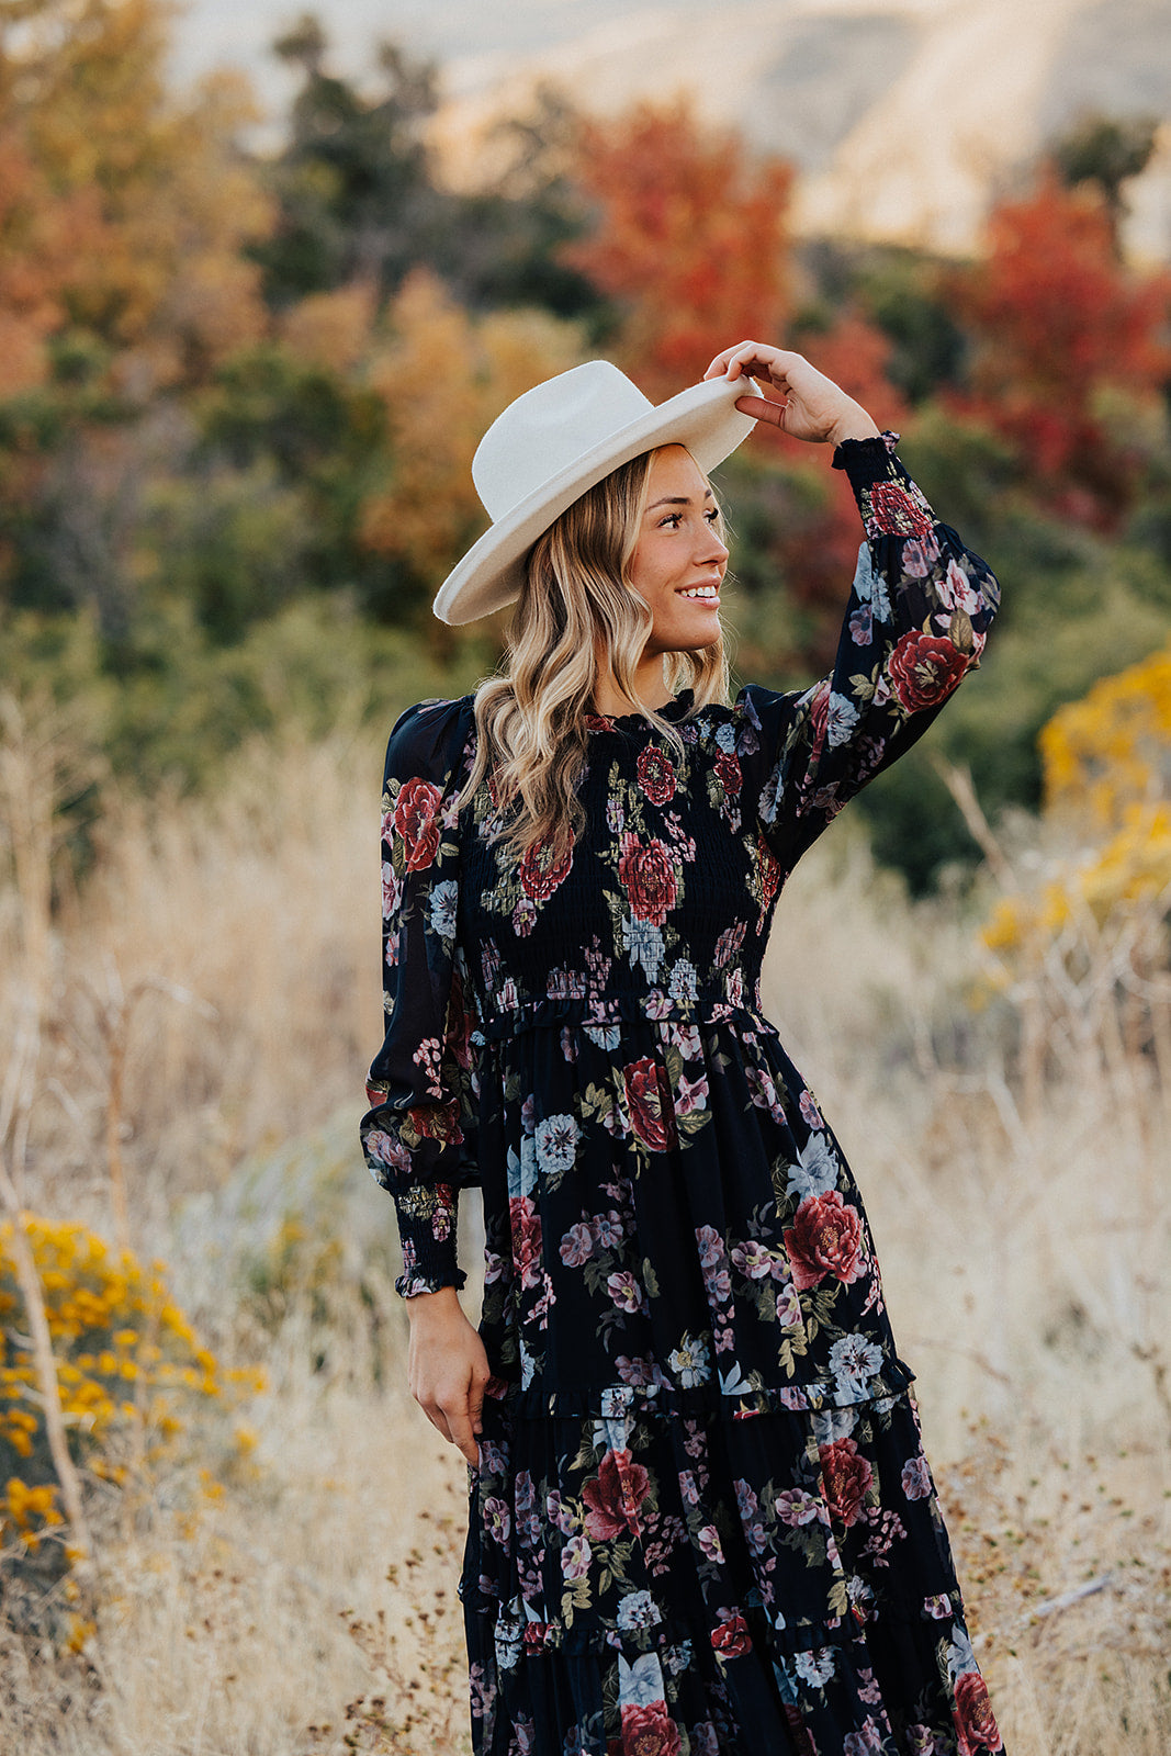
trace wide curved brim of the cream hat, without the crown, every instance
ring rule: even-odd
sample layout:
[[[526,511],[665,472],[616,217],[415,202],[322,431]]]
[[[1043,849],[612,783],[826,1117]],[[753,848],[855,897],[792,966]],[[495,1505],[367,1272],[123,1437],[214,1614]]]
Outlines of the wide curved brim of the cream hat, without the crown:
[[[648,409],[637,421],[620,427],[604,444],[574,458],[472,543],[435,594],[432,609],[439,620],[458,627],[511,604],[525,579],[525,555],[537,537],[581,499],[586,488],[593,488],[604,476],[643,451],[653,451],[662,444],[681,444],[704,474],[713,471],[757,425],[751,414],[741,414],[736,407],[737,397],[751,395],[758,395],[751,378],[704,379]]]

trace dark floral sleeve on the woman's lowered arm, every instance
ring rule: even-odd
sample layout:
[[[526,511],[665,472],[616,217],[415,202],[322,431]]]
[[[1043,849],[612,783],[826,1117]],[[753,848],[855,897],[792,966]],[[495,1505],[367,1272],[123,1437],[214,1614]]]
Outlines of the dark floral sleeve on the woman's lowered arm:
[[[397,720],[383,783],[383,1006],[360,1136],[395,1199],[404,1298],[462,1287],[458,1191],[479,1182],[476,1068],[456,939],[467,697],[420,702]]]

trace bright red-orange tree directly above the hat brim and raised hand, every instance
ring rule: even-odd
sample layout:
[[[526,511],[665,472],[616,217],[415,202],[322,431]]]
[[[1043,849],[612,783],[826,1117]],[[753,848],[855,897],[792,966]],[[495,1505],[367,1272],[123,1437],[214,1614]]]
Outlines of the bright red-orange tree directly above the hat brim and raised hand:
[[[585,123],[574,179],[597,202],[599,227],[565,256],[623,307],[621,363],[650,397],[695,383],[729,342],[779,335],[787,163],[751,158],[679,98]]]

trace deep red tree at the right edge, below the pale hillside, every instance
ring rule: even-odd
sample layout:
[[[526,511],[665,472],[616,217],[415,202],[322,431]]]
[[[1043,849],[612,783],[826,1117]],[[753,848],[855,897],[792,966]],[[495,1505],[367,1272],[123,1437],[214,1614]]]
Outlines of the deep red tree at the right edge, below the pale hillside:
[[[1046,174],[994,211],[987,258],[945,284],[978,342],[957,411],[1018,446],[1066,516],[1115,523],[1143,464],[1127,411],[1153,411],[1171,376],[1171,276],[1127,269],[1103,198]]]

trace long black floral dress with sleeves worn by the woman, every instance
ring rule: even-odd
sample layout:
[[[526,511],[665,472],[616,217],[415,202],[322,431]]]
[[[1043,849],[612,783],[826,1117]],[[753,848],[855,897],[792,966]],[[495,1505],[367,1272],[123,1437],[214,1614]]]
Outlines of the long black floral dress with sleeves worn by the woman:
[[[997,604],[895,435],[829,678],[592,716],[588,832],[500,855],[472,697],[383,795],[386,1040],[362,1138],[411,1296],[483,1187],[493,1380],[460,1596],[478,1756],[976,1756],[964,1628],[853,1175],[760,1011],[772,910],[927,729]]]

